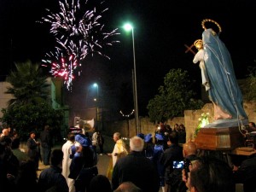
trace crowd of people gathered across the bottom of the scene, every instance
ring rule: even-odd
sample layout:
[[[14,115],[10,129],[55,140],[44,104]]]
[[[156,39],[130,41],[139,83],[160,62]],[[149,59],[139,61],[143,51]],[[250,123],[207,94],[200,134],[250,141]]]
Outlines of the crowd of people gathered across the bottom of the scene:
[[[199,156],[192,141],[180,143],[179,129],[185,130],[181,125],[172,129],[160,124],[153,134],[131,137],[129,146],[115,132],[113,152],[107,154],[108,172],[102,175],[97,168],[104,143],[100,131],[92,137],[88,132],[70,131],[67,142],[52,150],[49,125],[45,125],[38,134],[40,140],[35,131],[29,133],[25,152],[20,149],[19,136],[4,124],[0,135],[0,191],[235,192],[236,183],[244,184],[244,192],[256,191],[254,154],[231,167],[217,157]],[[252,138],[256,148],[256,138]],[[46,168],[38,174],[40,159]]]

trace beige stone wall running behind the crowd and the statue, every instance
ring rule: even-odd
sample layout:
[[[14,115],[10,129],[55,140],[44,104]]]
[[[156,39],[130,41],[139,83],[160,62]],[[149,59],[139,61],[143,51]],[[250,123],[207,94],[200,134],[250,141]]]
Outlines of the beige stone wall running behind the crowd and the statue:
[[[244,109],[247,113],[249,121],[256,122],[256,102],[246,102],[244,103]],[[166,123],[173,127],[174,124],[183,124],[186,127],[186,140],[194,140],[194,131],[198,125],[198,119],[201,117],[201,113],[209,113],[209,121],[213,121],[213,105],[212,103],[207,103],[200,110],[185,110],[184,117],[176,117],[174,119],[169,119]],[[143,134],[154,134],[156,130],[156,124],[149,121],[148,117],[139,118],[141,130]],[[108,136],[112,136],[115,131],[119,131],[122,137],[133,137],[136,135],[135,129],[135,119],[129,119],[124,121],[116,121],[113,123],[107,123],[102,130]],[[129,130],[129,131],[128,131]]]

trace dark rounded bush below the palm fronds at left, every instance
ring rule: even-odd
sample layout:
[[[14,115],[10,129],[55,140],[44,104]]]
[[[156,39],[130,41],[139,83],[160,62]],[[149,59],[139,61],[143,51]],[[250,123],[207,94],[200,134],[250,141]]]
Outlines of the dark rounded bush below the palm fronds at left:
[[[10,127],[18,131],[21,140],[26,140],[30,131],[39,133],[44,125],[49,125],[54,136],[60,136],[64,113],[55,110],[48,104],[41,102],[15,104],[11,108],[2,109],[2,122],[7,122]]]

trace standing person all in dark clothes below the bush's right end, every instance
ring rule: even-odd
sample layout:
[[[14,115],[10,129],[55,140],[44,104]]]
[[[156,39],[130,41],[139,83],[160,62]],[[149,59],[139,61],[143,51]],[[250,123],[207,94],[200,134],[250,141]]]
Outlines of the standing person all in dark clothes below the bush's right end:
[[[40,134],[40,140],[44,166],[49,166],[49,156],[53,146],[52,137],[49,133],[49,125],[44,126],[44,131]]]

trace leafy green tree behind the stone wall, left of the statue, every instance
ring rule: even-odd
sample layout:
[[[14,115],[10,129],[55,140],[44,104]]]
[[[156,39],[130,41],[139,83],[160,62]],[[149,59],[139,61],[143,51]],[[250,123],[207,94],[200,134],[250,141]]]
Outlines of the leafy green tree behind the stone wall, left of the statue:
[[[159,95],[148,102],[148,115],[152,122],[166,121],[183,116],[185,109],[199,109],[201,100],[195,100],[189,74],[182,69],[171,69],[164,78],[164,86],[160,86]]]

